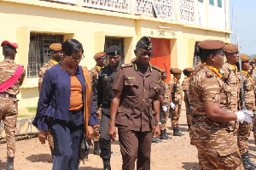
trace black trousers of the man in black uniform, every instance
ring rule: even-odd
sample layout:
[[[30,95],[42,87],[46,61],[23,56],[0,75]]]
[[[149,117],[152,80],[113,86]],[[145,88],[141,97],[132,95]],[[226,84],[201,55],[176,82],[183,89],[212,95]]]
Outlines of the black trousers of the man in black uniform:
[[[102,120],[100,123],[100,146],[102,160],[109,160],[111,157],[111,140],[108,135],[108,123],[110,116],[106,115],[106,112],[110,112],[109,109],[102,108]]]

